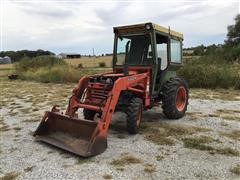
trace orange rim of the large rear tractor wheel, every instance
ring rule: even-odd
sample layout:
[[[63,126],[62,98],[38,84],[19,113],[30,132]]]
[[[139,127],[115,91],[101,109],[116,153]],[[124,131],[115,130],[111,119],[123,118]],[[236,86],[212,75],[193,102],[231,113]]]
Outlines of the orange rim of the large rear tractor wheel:
[[[183,86],[180,86],[176,95],[176,108],[178,111],[183,111],[187,101],[187,92]]]

